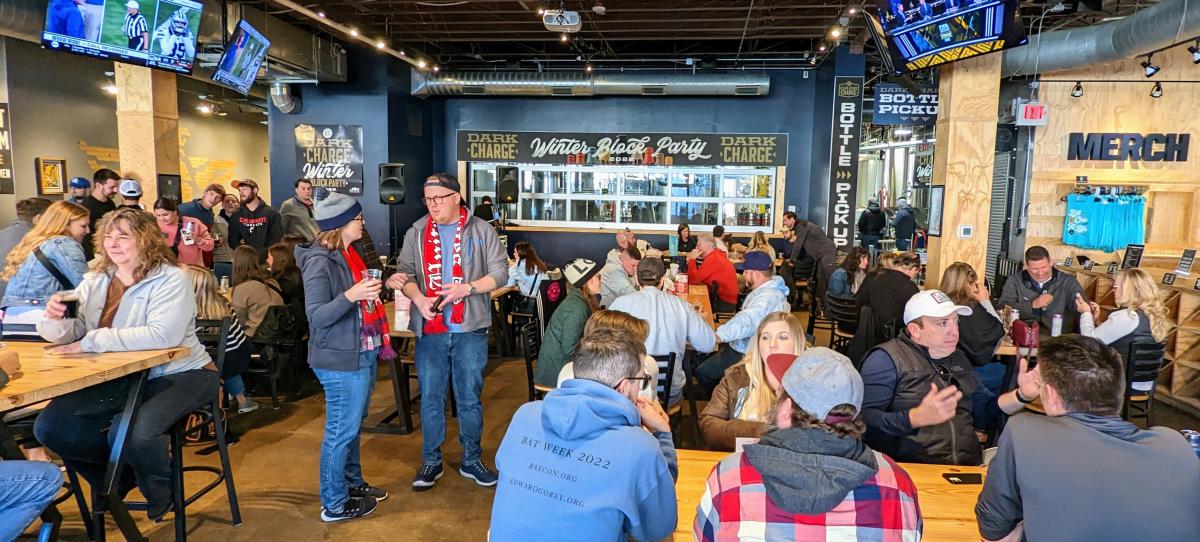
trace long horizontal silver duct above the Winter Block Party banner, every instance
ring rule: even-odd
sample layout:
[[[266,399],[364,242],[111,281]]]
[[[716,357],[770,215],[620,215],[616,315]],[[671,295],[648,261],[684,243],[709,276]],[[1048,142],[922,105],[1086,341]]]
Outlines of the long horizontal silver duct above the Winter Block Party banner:
[[[413,72],[412,94],[430,96],[766,96],[761,73]]]

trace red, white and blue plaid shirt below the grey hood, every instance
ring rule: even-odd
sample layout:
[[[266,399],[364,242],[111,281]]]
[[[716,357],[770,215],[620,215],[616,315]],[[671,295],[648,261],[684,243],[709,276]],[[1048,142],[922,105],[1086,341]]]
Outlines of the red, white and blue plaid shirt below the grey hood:
[[[816,516],[786,512],[767,496],[762,475],[745,454],[713,468],[692,526],[697,541],[919,541],[917,486],[890,457],[875,452],[878,471],[833,510]]]

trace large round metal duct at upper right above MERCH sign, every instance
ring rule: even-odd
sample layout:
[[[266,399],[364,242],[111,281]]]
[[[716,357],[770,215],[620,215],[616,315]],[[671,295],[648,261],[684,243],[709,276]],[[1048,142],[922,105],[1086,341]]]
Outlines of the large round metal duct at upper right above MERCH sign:
[[[1003,77],[1133,59],[1200,35],[1200,0],[1163,0],[1121,20],[1030,36],[1004,52]],[[1040,36],[1040,37],[1039,37]]]

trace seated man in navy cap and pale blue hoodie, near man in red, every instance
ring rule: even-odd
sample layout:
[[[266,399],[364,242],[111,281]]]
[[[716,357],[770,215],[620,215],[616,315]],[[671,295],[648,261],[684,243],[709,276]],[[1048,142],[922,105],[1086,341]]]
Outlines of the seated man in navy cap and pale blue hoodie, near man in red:
[[[787,303],[787,284],[775,276],[775,266],[767,254],[748,253],[742,269],[750,294],[742,311],[716,329],[716,342],[724,343],[721,348],[696,367],[696,380],[709,392],[725,377],[726,369],[745,357],[755,330],[767,314],[792,311]]]

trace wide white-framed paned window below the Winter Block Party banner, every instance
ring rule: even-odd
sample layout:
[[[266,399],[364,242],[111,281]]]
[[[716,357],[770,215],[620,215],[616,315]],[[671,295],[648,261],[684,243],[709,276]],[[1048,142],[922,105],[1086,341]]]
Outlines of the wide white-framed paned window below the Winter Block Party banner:
[[[499,205],[520,225],[632,227],[722,224],[728,231],[774,227],[775,168],[548,165],[472,163],[470,201],[496,200],[496,167],[520,168],[520,203]]]

